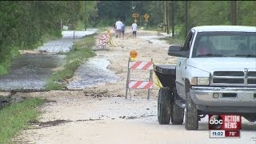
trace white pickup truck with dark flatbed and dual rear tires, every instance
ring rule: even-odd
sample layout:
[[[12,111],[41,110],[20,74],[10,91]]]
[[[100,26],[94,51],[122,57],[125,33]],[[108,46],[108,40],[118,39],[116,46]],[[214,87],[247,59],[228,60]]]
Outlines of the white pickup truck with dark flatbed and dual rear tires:
[[[256,121],[256,27],[197,26],[183,46],[170,46],[176,66],[154,66],[162,87],[159,124],[198,130],[206,114],[239,114]]]

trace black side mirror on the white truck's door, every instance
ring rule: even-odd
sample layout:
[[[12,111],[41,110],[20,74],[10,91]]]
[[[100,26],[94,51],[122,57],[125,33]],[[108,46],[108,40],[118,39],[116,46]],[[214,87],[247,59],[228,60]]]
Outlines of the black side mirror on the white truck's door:
[[[168,55],[175,56],[175,57],[183,57],[183,58],[189,58],[189,51],[181,51],[182,46],[170,46],[168,50]]]

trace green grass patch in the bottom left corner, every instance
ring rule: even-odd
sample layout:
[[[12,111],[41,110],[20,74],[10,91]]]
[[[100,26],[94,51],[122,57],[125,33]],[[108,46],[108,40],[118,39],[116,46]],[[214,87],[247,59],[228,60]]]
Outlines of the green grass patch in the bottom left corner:
[[[39,98],[30,98],[0,110],[0,143],[9,142],[29,126],[30,120],[37,119],[40,113],[36,107],[44,102]]]

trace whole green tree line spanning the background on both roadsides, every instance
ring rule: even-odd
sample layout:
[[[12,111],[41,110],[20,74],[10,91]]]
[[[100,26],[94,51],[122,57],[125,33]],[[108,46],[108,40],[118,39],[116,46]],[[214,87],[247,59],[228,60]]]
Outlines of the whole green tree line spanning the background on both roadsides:
[[[230,1],[0,1],[0,74],[18,50],[42,45],[46,34],[61,36],[62,25],[113,26],[118,18],[130,26],[170,26],[179,35],[202,25],[230,25]],[[143,18],[149,14],[149,21]],[[256,1],[237,1],[237,25],[256,25]],[[171,29],[172,28],[172,29]]]

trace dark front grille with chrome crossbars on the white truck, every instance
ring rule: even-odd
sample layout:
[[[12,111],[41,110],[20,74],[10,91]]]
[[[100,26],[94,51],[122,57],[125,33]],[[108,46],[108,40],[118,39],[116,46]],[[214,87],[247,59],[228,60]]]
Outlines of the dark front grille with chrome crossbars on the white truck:
[[[256,71],[214,71],[214,86],[256,86]]]

